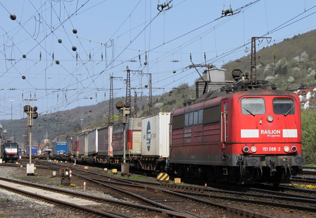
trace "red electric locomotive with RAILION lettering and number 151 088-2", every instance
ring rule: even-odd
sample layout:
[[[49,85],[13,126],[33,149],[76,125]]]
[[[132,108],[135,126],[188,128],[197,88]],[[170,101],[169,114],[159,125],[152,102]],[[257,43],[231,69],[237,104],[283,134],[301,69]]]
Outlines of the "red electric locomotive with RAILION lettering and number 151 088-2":
[[[267,81],[237,81],[206,93],[174,110],[171,123],[168,162],[178,176],[279,184],[305,164],[299,97]]]

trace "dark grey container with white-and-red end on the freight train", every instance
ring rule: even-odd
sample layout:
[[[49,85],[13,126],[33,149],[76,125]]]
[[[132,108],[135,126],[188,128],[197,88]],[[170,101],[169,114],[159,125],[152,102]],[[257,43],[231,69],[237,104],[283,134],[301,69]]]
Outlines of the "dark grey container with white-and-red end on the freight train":
[[[113,156],[112,129],[113,127],[111,126],[98,129],[99,156]]]

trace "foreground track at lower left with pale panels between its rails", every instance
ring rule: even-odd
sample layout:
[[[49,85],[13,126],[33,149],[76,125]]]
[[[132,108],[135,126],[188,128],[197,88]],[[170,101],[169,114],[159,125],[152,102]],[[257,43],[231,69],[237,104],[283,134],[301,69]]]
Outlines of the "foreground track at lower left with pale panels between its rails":
[[[111,200],[103,197],[86,195],[78,192],[61,190],[18,180],[0,178],[0,187],[19,194],[60,204],[99,217],[177,217],[194,218],[196,216],[165,209],[148,207],[140,204]],[[47,197],[49,196],[49,197]],[[122,210],[124,211],[122,213]]]

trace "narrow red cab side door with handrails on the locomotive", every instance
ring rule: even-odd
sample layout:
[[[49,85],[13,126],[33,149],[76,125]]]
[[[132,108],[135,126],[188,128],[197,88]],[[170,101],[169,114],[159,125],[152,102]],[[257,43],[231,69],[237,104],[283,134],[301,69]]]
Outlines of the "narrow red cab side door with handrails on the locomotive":
[[[226,144],[227,144],[227,119],[228,119],[228,110],[227,110],[228,99],[222,101],[221,109],[221,150],[222,150],[222,159],[226,159]]]

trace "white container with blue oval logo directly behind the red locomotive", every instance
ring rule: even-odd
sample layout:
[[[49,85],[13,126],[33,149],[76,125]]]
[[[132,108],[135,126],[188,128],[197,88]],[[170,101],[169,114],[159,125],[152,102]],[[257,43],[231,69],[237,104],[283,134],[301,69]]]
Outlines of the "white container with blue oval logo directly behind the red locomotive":
[[[142,156],[169,156],[170,113],[142,118]]]

